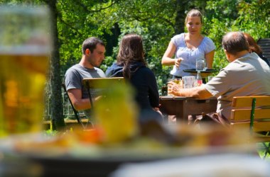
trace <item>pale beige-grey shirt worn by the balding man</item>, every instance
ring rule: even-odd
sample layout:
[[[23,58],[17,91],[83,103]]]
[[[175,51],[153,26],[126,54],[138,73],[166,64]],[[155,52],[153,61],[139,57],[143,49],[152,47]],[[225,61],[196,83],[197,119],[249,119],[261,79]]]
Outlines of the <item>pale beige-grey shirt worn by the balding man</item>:
[[[217,113],[229,119],[234,96],[270,95],[270,68],[253,52],[229,63],[204,86],[217,97]]]

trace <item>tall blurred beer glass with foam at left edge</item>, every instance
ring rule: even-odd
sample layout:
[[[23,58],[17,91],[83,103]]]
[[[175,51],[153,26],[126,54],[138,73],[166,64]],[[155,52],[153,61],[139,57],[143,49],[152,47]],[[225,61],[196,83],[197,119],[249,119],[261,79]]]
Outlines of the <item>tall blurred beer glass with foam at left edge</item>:
[[[45,7],[0,6],[0,137],[42,129],[49,17]]]

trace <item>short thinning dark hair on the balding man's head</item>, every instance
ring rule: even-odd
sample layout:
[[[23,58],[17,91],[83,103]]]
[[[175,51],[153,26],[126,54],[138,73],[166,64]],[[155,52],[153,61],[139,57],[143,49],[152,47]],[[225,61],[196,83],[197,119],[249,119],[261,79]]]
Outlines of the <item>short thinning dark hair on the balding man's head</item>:
[[[222,38],[222,47],[232,55],[243,50],[249,51],[249,43],[242,32],[229,32]]]

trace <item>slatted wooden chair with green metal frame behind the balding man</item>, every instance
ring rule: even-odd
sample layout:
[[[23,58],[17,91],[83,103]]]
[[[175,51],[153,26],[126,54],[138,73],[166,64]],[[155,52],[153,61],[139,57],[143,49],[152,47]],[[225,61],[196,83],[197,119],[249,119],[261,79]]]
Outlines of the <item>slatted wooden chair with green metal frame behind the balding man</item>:
[[[231,127],[246,128],[256,142],[262,142],[265,159],[270,154],[270,96],[236,96],[232,107]]]

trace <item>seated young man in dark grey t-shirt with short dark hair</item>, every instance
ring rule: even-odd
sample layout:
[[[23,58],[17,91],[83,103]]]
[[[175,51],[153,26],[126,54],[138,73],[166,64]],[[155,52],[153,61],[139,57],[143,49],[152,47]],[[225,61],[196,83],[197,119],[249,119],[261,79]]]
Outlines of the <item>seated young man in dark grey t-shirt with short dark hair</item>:
[[[87,38],[82,43],[82,59],[79,64],[70,67],[65,73],[65,86],[70,101],[76,110],[84,110],[87,118],[92,106],[87,89],[82,85],[82,79],[105,77],[104,72],[97,68],[104,60],[104,53],[105,45],[102,40],[95,37]],[[91,93],[95,99],[96,91],[91,90]]]

